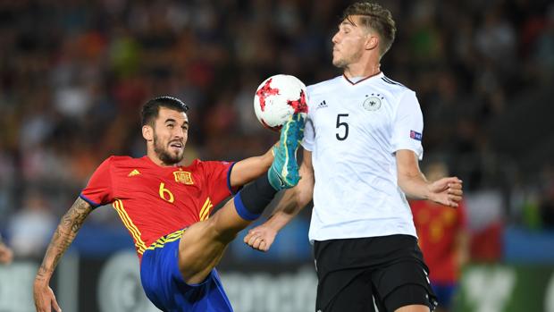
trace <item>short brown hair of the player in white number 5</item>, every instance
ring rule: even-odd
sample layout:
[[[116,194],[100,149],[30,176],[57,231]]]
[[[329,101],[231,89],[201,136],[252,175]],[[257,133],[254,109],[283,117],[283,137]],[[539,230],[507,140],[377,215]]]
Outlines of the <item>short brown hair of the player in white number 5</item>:
[[[340,21],[349,19],[351,15],[361,15],[362,23],[365,27],[375,30],[381,38],[380,54],[381,56],[389,51],[394,37],[396,35],[396,23],[392,20],[390,11],[383,8],[380,4],[373,4],[366,1],[359,1],[348,7],[342,13]]]

